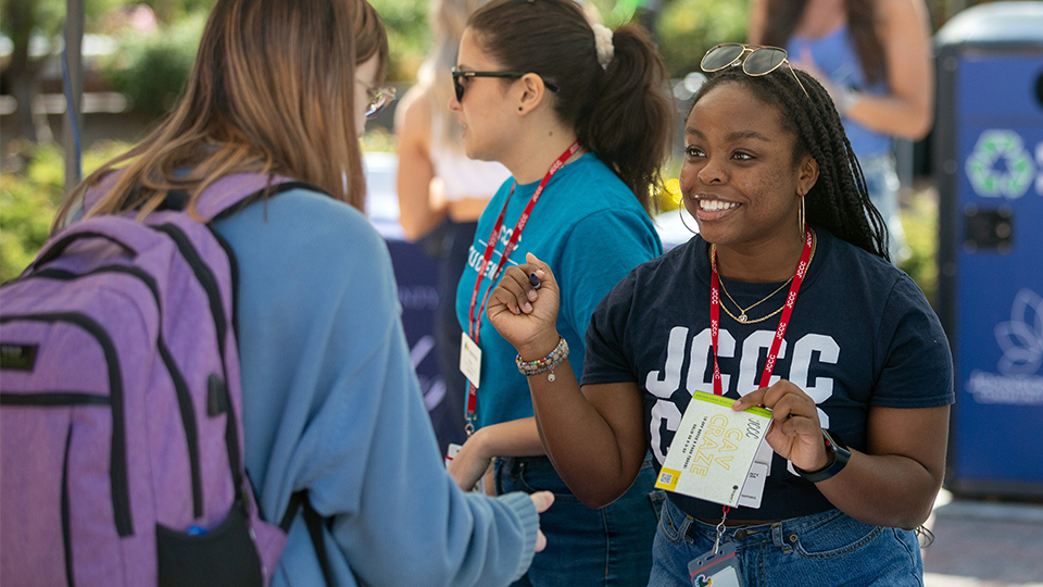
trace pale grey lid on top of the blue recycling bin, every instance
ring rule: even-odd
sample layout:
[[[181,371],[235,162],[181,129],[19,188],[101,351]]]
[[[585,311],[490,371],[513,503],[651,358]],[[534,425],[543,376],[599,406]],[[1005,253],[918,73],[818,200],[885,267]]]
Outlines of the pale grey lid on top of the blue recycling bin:
[[[959,43],[1043,43],[1043,2],[990,2],[953,16],[934,35],[937,47]]]

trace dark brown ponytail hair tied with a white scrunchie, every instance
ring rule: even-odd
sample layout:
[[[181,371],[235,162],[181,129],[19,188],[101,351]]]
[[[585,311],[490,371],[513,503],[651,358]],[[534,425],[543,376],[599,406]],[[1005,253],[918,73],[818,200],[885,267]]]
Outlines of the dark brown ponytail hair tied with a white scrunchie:
[[[555,112],[650,210],[650,187],[669,153],[674,101],[663,58],[640,27],[613,35],[615,55],[598,63],[594,33],[573,0],[501,0],[468,21],[481,49],[505,70],[535,72],[561,89]]]

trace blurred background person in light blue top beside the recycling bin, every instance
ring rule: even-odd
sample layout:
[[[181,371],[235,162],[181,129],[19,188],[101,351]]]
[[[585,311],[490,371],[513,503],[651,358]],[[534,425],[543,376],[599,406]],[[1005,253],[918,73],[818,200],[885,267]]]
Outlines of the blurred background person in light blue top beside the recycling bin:
[[[931,129],[934,70],[923,0],[753,0],[750,42],[783,47],[829,91],[888,223],[891,262],[908,257],[893,139]]]

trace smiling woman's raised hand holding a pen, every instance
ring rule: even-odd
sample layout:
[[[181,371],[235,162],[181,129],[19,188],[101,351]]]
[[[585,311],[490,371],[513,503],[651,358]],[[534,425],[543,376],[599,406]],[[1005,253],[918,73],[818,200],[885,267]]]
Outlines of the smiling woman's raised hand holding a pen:
[[[504,271],[489,296],[486,315],[523,360],[532,361],[546,357],[557,346],[555,324],[561,290],[546,263],[532,253],[526,254],[525,260],[526,263]],[[530,279],[531,275],[535,279]]]

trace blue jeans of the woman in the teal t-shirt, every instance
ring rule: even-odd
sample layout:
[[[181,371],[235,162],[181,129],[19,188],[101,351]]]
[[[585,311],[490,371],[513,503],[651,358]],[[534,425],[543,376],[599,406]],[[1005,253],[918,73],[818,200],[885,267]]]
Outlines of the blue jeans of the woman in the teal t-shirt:
[[[540,514],[546,549],[514,585],[587,587],[644,585],[652,569],[652,540],[665,495],[654,489],[652,460],[623,497],[592,510],[565,486],[546,457],[497,460],[497,492],[548,490],[554,504]]]

